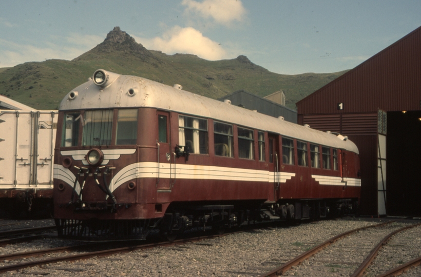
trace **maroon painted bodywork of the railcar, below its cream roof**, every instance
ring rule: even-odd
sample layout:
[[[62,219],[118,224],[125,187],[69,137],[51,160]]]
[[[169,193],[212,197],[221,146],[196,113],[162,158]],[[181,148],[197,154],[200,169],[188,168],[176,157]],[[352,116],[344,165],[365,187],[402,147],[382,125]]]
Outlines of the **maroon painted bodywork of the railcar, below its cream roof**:
[[[63,112],[60,112],[60,120],[58,130],[62,128]],[[167,116],[169,126],[167,128],[167,142],[158,143],[158,116]],[[208,147],[207,154],[189,154],[186,156],[176,157],[174,149],[179,145],[179,123],[178,113],[158,111],[153,108],[139,109],[138,125],[138,144],[136,146],[99,146],[97,148],[102,151],[108,149],[136,149],[134,153],[124,154],[119,159],[110,160],[107,167],[112,169],[106,175],[106,182],[109,184],[114,176],[117,176],[121,170],[131,164],[144,165],[151,163],[156,168],[148,169],[148,174],[156,174],[154,177],[145,175],[141,177],[141,169],[137,169],[136,174],[133,173],[132,178],[125,179],[124,183],[112,191],[113,195],[120,206],[116,212],[112,213],[95,213],[84,212],[75,213],[73,205],[68,205],[72,199],[73,184],[69,184],[65,180],[59,178],[54,179],[54,217],[59,219],[150,219],[164,216],[164,213],[170,203],[173,202],[200,202],[200,203],[220,203],[224,201],[247,201],[256,200],[264,202],[288,201],[291,199],[358,199],[360,187],[358,186],[332,186],[320,185],[312,175],[336,176],[358,178],[358,155],[353,152],[340,151],[342,160],[340,161],[341,170],[311,168],[309,166],[284,165],[282,164],[282,145],[281,136],[279,134],[268,134],[265,132],[265,157],[266,161],[258,160],[258,141],[254,140],[254,160],[240,159],[238,148],[234,147],[234,157],[216,156],[214,147]],[[115,121],[115,120],[114,120]],[[213,120],[208,119],[208,126],[213,126]],[[234,130],[237,126],[234,125]],[[255,137],[257,131],[254,130]],[[56,165],[62,165],[65,158],[72,159],[71,166],[68,170],[75,176],[78,174],[78,168],[90,168],[90,173],[86,177],[86,183],[83,189],[82,201],[84,202],[105,202],[111,204],[110,197],[102,191],[94,180],[95,167],[87,166],[82,161],[76,161],[72,155],[62,155],[61,151],[68,150],[88,150],[92,147],[60,147],[61,133],[58,133],[58,143],[55,149]],[[269,138],[271,137],[272,140]],[[237,132],[234,132],[234,142],[237,141]],[[269,144],[273,141],[273,147]],[[208,128],[208,145],[214,144],[213,128]],[[275,153],[274,157],[278,157],[278,161],[270,162],[270,148]],[[332,150],[331,150],[332,151]],[[64,152],[65,153],[65,152]],[[168,157],[169,155],[169,157]],[[297,156],[297,148],[295,147],[295,156]],[[310,155],[308,157],[310,164]],[[321,155],[319,157],[320,164],[322,162]],[[332,156],[330,157],[333,163]],[[343,161],[343,162],[342,162]],[[74,167],[76,166],[76,167]],[[190,166],[190,167],[188,167]],[[183,177],[182,173],[185,168],[196,167],[218,167],[221,169],[232,170],[258,170],[267,174],[267,180],[244,181],[241,178],[237,180],[227,180],[230,177],[221,178],[203,177],[194,179],[194,177]],[[159,170],[162,172],[157,174]],[[169,168],[170,177],[168,178],[163,172],[165,168]],[[270,178],[274,172],[295,173],[290,180],[284,183],[273,182]],[[135,172],[135,171],[133,171]],[[140,172],[140,173],[139,173]],[[82,173],[85,174],[85,173]],[[104,172],[98,175],[99,183],[103,184]],[[145,173],[146,174],[146,173]],[[160,175],[162,174],[162,176]],[[203,173],[202,173],[203,174]],[[237,174],[238,175],[238,174]],[[241,174],[240,174],[241,175]],[[158,177],[159,176],[159,177]],[[79,176],[79,182],[83,182],[85,175]],[[240,176],[241,177],[241,176]],[[131,186],[131,187],[130,187]],[[73,199],[77,199],[78,195],[74,193]],[[106,197],[108,198],[106,200]]]

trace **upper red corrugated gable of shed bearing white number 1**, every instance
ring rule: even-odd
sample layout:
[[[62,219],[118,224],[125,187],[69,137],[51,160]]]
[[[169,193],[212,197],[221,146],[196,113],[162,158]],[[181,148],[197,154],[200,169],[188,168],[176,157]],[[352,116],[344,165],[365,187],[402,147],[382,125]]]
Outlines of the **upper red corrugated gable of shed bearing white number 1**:
[[[421,27],[303,98],[297,109],[299,115],[420,110],[420,101]]]

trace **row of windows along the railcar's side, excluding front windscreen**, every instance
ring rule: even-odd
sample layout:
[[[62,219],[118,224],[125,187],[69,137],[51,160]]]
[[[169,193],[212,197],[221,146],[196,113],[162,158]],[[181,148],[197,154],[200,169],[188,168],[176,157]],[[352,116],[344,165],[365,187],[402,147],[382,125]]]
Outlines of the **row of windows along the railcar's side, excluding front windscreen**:
[[[160,142],[166,142],[162,138],[166,137],[166,116],[159,116],[159,138]],[[161,118],[165,118],[161,119]],[[208,153],[208,126],[207,120],[186,115],[179,115],[179,144],[184,147],[184,151],[195,154]],[[163,125],[165,124],[165,125]],[[163,127],[165,126],[165,127]],[[214,147],[215,155],[234,157],[234,126],[222,122],[214,121]],[[165,134],[163,133],[165,131]],[[254,130],[243,127],[237,127],[238,133],[238,156],[241,159],[255,160],[254,156]],[[264,132],[257,132],[259,161],[265,161],[265,140]],[[270,152],[273,152],[272,140],[270,141]],[[338,170],[338,152],[337,149],[297,140],[297,164],[299,166],[309,166],[308,155],[310,154],[310,166],[312,168],[324,168]],[[332,160],[331,160],[332,157]],[[273,162],[271,154],[270,162]],[[295,165],[294,140],[288,137],[282,137],[282,163]]]

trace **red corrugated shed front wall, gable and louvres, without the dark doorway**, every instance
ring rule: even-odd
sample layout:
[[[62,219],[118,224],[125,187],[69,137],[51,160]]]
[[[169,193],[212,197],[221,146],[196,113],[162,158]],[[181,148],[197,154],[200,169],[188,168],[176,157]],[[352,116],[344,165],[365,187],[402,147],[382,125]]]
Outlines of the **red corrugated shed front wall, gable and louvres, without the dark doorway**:
[[[421,110],[421,27],[297,103],[298,124],[340,132],[357,145],[361,214],[377,214],[379,109]]]

